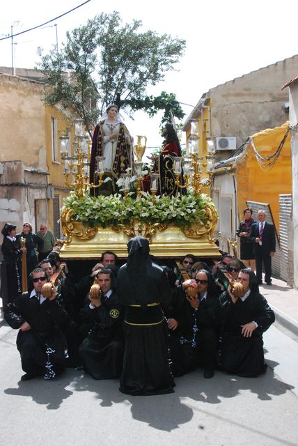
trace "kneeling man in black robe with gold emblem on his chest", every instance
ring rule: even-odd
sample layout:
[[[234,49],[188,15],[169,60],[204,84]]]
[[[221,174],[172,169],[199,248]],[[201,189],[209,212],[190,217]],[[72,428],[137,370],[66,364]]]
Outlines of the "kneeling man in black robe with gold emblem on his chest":
[[[109,268],[98,273],[101,297],[87,296],[81,310],[81,330],[86,339],[79,346],[84,371],[94,379],[119,378],[123,362],[122,309],[115,291],[115,277]]]

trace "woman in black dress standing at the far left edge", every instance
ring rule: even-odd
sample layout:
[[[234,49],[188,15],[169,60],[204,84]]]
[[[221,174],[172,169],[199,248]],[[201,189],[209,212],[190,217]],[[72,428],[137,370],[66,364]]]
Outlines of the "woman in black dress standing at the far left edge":
[[[8,291],[8,302],[13,302],[17,295],[22,293],[22,252],[26,248],[20,248],[15,234],[17,226],[12,223],[4,224],[2,228],[3,243],[1,251],[3,260],[6,263],[6,283]]]

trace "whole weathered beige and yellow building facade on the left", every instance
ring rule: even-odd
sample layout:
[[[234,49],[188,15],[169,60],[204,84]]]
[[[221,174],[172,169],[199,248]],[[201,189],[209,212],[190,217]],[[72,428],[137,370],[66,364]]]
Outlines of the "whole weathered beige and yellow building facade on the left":
[[[0,226],[12,222],[20,231],[27,221],[37,231],[47,222],[60,237],[59,209],[69,188],[58,137],[71,122],[42,102],[45,88],[42,82],[0,73]]]

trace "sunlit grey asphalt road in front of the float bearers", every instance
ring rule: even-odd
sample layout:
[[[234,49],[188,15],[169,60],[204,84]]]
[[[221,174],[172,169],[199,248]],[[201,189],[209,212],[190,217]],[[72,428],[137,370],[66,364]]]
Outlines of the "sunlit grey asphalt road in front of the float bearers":
[[[127,397],[117,380],[75,369],[22,382],[16,334],[0,328],[1,445],[298,445],[298,344],[276,326],[265,334],[265,376],[197,370],[155,397]]]

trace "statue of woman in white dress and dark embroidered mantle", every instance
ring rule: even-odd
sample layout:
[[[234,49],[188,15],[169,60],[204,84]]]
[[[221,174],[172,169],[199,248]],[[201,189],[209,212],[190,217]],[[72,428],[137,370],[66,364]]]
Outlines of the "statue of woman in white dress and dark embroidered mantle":
[[[90,160],[91,183],[97,183],[95,157],[103,156],[105,158],[103,161],[104,175],[110,176],[112,180],[112,187],[109,187],[110,192],[116,192],[116,180],[120,178],[121,174],[125,174],[127,167],[132,166],[131,143],[132,137],[120,118],[117,105],[109,105],[93,134]],[[100,193],[98,188],[91,188],[92,195],[98,193]]]

